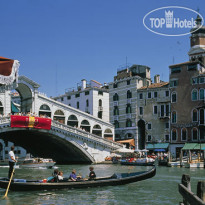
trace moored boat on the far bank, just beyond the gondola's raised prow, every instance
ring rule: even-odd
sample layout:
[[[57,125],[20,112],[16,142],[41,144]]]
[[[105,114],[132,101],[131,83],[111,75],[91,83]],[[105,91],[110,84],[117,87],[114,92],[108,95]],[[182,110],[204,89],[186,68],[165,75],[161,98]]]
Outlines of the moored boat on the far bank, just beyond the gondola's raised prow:
[[[125,159],[121,160],[121,165],[134,165],[134,166],[153,166],[155,160],[152,158],[136,158],[136,159]]]

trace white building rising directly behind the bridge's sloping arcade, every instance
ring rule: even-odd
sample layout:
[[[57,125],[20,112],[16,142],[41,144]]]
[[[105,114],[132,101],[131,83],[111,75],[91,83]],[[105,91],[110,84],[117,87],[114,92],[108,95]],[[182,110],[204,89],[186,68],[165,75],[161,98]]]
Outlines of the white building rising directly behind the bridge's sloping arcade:
[[[106,84],[83,79],[76,90],[67,89],[64,95],[53,99],[109,122],[109,89]]]

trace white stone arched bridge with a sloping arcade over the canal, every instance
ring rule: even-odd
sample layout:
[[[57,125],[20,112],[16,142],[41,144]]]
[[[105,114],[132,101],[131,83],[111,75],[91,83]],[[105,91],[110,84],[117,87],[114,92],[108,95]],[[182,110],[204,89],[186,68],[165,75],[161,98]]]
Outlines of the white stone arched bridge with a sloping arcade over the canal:
[[[50,157],[59,163],[98,163],[121,148],[114,142],[114,127],[90,114],[57,102],[39,92],[39,84],[20,76],[16,91],[22,113],[51,118],[51,128],[11,127],[11,91],[0,93],[1,141],[11,141],[28,153]],[[2,143],[2,149],[5,144]]]

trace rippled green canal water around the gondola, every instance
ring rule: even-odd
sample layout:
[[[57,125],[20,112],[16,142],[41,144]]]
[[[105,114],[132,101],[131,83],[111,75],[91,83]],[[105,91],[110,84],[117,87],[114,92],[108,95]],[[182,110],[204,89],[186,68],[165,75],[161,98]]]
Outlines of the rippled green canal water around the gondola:
[[[86,177],[89,165],[59,165],[64,176],[69,176],[72,169]],[[97,176],[109,176],[114,172],[135,172],[148,170],[151,167],[121,166],[112,164],[94,165]],[[44,179],[51,176],[53,169],[20,169],[16,168],[15,178]],[[0,167],[0,177],[7,176],[8,167]],[[157,167],[157,174],[151,179],[121,186],[96,187],[57,191],[9,191],[8,198],[0,199],[1,205],[159,205],[179,204],[182,201],[178,193],[178,183],[182,174],[191,176],[191,188],[196,193],[197,182],[205,180],[205,170],[200,168]],[[0,189],[0,196],[5,190]]]

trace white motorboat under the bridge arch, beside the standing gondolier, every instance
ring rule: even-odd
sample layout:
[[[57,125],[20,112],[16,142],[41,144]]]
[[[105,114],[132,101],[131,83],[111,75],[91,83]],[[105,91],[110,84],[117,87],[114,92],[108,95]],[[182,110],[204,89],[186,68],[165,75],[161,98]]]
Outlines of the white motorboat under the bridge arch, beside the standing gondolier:
[[[55,164],[56,162],[54,162],[52,159],[28,158],[20,164],[20,168],[52,168]]]

